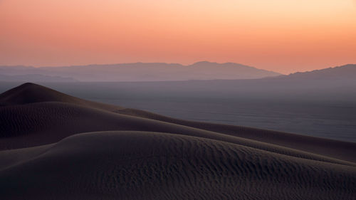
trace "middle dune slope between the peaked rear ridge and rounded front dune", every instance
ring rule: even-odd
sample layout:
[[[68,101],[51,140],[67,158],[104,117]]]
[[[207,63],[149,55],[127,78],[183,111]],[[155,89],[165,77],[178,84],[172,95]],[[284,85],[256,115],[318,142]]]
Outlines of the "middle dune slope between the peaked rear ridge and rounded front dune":
[[[248,147],[286,154],[292,157],[355,165],[354,163],[347,162],[353,158],[352,154],[349,154],[349,159],[342,161],[337,157],[329,157],[328,154],[318,155],[266,142],[224,135],[218,132],[199,130],[193,127],[141,117],[120,115],[114,112],[68,103],[41,102],[28,105],[6,106],[0,109],[0,113],[0,120],[4,122],[0,126],[0,147],[4,149],[49,144],[81,132],[135,130],[169,132],[178,135],[209,138],[234,144],[243,144]],[[347,154],[348,152],[342,153]]]

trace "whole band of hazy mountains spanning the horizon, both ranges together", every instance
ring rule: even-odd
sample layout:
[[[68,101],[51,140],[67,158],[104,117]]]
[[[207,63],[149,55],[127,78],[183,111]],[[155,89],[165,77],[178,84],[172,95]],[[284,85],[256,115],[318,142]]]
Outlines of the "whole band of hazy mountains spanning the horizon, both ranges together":
[[[77,65],[65,67],[0,66],[0,81],[12,82],[102,82],[102,81],[169,81],[169,80],[246,80],[244,83],[334,80],[353,82],[356,65],[348,64],[307,72],[281,75],[238,63],[202,61],[192,65],[177,63],[122,63],[114,65]],[[253,80],[251,80],[253,79]],[[261,80],[256,80],[261,79]],[[328,83],[331,84],[331,83]]]

